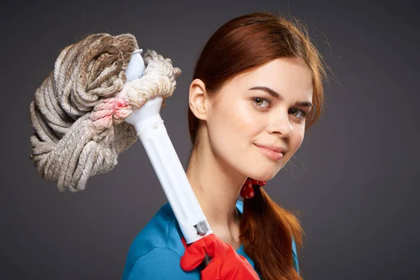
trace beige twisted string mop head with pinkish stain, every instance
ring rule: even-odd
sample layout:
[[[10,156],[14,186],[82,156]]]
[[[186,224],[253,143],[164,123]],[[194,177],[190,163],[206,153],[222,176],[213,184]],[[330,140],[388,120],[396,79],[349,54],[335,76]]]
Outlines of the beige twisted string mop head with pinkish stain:
[[[36,90],[30,158],[59,190],[83,190],[90,176],[111,171],[137,141],[125,118],[156,96],[164,106],[174,92],[181,70],[153,50],[144,54],[144,75],[127,81],[125,69],[138,48],[132,34],[87,36],[60,52]]]

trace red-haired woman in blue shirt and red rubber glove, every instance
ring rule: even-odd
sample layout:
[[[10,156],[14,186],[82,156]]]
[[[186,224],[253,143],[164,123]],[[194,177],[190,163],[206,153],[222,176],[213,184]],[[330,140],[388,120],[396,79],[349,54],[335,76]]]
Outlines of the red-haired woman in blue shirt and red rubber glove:
[[[214,235],[186,248],[167,203],[130,247],[124,280],[301,279],[300,223],[261,187],[321,115],[323,78],[307,33],[285,18],[243,15],[211,36],[190,84],[186,174]],[[200,272],[197,252],[211,250],[218,261]]]

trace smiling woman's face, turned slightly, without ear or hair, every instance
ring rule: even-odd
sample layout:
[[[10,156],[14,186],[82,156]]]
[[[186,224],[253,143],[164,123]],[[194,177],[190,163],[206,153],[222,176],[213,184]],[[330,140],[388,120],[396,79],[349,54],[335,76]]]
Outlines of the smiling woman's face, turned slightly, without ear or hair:
[[[274,59],[235,76],[206,99],[216,158],[244,176],[272,179],[302,144],[312,94],[301,59]]]

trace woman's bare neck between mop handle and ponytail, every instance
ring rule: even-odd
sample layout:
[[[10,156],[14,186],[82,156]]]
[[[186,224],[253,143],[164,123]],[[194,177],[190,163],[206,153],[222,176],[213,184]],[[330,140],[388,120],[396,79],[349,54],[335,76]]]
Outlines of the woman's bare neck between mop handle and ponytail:
[[[240,218],[236,202],[246,177],[235,176],[210,148],[202,147],[193,148],[186,174],[211,229],[223,241],[237,243]]]

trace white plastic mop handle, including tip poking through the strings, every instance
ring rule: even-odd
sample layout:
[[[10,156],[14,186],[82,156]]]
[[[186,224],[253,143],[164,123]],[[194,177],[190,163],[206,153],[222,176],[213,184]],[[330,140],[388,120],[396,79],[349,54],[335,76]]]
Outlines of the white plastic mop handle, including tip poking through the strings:
[[[133,52],[126,70],[127,80],[143,76],[144,61],[140,53]],[[183,237],[190,244],[210,235],[212,230],[169,139],[159,113],[161,106],[162,97],[155,97],[141,109],[134,110],[125,121],[134,125],[174,211]]]

